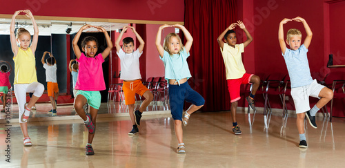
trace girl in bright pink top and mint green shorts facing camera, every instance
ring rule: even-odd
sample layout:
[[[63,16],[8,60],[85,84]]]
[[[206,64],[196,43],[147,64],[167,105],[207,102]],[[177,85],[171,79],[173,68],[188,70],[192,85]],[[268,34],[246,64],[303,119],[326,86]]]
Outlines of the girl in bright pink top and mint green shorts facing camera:
[[[108,47],[102,53],[96,55],[98,50],[98,42],[95,37],[85,37],[81,41],[81,53],[78,40],[83,30],[88,28],[97,28],[99,32],[103,32],[106,37]],[[86,144],[86,155],[93,155],[95,152],[92,149],[92,140],[95,136],[96,117],[99,106],[101,105],[101,93],[99,91],[106,89],[106,84],[103,78],[102,63],[104,59],[110,54],[112,50],[112,42],[108,32],[98,26],[85,25],[80,28],[72,41],[73,50],[79,62],[79,72],[77,78],[76,90],[79,90],[75,97],[75,111],[83,119],[84,124],[88,128],[88,144]],[[90,108],[88,113],[85,113],[83,106],[88,103]]]

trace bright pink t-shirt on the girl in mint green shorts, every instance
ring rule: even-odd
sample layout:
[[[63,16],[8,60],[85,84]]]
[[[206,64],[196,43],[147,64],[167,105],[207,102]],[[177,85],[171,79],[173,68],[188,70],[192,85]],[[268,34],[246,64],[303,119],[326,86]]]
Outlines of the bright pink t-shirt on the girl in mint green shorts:
[[[104,62],[101,54],[95,57],[86,57],[81,53],[79,59],[79,71],[75,90],[81,91],[103,91],[106,90],[106,83],[103,77],[102,63]]]

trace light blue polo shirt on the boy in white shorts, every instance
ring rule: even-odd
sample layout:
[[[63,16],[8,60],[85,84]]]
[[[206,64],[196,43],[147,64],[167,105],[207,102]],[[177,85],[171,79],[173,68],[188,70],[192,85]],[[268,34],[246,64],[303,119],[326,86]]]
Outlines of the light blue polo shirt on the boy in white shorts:
[[[290,75],[291,88],[306,86],[313,82],[308,57],[306,57],[307,52],[308,49],[302,44],[297,50],[286,48],[285,55],[282,54],[288,68],[288,75]]]

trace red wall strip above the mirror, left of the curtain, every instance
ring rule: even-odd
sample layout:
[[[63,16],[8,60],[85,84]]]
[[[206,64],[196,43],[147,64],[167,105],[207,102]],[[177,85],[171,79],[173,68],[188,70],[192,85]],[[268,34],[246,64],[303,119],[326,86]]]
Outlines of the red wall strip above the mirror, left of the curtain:
[[[184,21],[184,0],[19,0],[1,2],[0,13],[12,15],[22,9],[38,16]]]

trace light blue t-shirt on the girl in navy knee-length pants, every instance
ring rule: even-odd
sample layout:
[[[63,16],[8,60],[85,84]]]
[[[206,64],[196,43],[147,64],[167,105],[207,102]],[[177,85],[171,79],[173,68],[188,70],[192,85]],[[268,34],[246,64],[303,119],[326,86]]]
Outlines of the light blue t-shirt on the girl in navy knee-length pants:
[[[164,50],[164,55],[161,60],[164,62],[166,80],[176,80],[179,84],[179,80],[192,77],[190,75],[187,58],[189,53],[186,53],[186,48],[181,50],[179,54],[170,55],[166,50]]]

